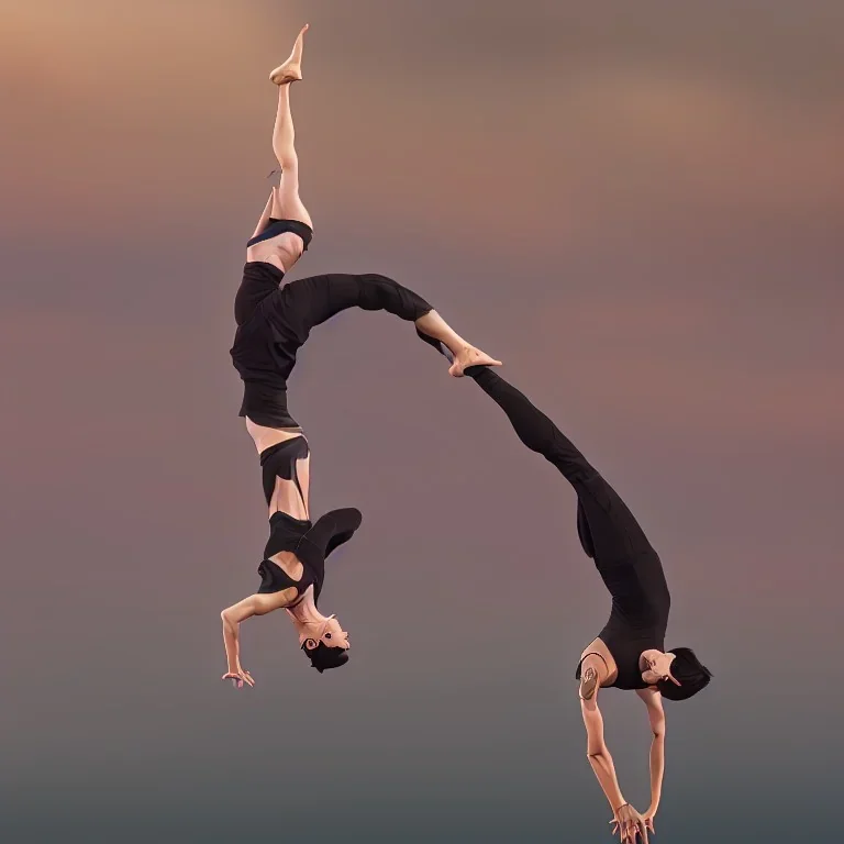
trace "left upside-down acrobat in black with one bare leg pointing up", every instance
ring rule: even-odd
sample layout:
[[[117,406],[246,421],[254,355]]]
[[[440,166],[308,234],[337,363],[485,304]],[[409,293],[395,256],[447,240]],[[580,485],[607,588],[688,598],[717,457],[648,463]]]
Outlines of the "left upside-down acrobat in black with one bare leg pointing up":
[[[234,302],[237,330],[231,354],[244,382],[240,414],[260,455],[269,512],[269,541],[258,566],[260,586],[222,612],[227,658],[223,679],[231,679],[236,688],[254,685],[241,664],[240,623],[273,610],[287,610],[301,648],[320,673],[348,659],[348,635],[336,618],[323,615],[316,604],[325,558],[352,537],[360,525],[360,513],[345,508],[311,520],[310,449],[287,404],[287,379],[311,329],[348,308],[384,310],[413,322],[427,342],[451,349],[454,363],[449,373],[455,377],[471,364],[499,365],[455,334],[424,299],[385,276],[331,274],[282,284],[285,273],[313,236],[311,218],[299,198],[290,115],[290,84],[302,78],[307,30],[299,33],[290,58],[270,75],[279,86],[273,148],[281,182],[247,243],[243,281]]]

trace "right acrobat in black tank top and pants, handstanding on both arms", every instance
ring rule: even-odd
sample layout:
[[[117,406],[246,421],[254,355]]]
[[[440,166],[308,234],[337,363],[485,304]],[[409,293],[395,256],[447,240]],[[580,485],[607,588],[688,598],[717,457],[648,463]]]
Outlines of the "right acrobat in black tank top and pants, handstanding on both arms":
[[[442,349],[441,349],[442,351]],[[446,355],[448,357],[448,355]],[[659,804],[664,769],[665,713],[662,698],[684,700],[711,677],[685,647],[665,649],[670,596],[657,553],[615,490],[568,437],[525,396],[486,366],[465,374],[507,413],[519,438],[552,463],[577,492],[577,532],[586,554],[612,597],[603,630],[584,649],[577,666],[588,734],[588,756],[613,809],[623,841],[647,841]],[[647,707],[651,749],[651,807],[640,815],[624,800],[598,709],[598,690],[632,689]]]

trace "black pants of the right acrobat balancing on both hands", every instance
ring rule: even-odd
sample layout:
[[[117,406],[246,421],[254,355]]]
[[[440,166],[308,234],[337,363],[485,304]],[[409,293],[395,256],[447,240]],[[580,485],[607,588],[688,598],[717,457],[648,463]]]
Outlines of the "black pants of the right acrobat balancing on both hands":
[[[507,413],[522,443],[575,488],[580,544],[599,566],[653,552],[618,492],[541,410],[489,367],[470,367],[466,374]]]

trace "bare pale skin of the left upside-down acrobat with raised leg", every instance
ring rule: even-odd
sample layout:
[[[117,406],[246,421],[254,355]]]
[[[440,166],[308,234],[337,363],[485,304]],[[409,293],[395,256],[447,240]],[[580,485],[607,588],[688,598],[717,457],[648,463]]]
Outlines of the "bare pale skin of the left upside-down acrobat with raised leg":
[[[304,47],[304,34],[310,27],[306,25],[299,33],[293,49],[288,59],[279,65],[270,74],[270,81],[278,86],[278,109],[273,127],[273,151],[281,170],[281,178],[277,188],[273,188],[269,199],[260,214],[253,236],[256,236],[267,225],[269,218],[278,220],[297,220],[313,229],[313,222],[308,209],[299,195],[299,157],[296,152],[296,132],[290,111],[290,87],[302,79],[302,54]],[[285,232],[275,237],[262,241],[247,247],[247,262],[266,262],[288,273],[302,256],[304,243],[298,234]],[[489,355],[476,348],[459,334],[436,312],[420,316],[415,326],[424,334],[443,343],[454,357],[448,368],[449,375],[463,377],[464,369],[468,366],[484,364],[487,366],[501,366]],[[300,429],[277,429],[259,425],[246,418],[246,431],[255,443],[258,453],[273,445],[302,436]],[[309,487],[310,487],[310,455],[297,464],[297,473],[302,487],[302,493],[292,481],[276,479],[270,503],[269,515],[281,511],[295,519],[310,519]],[[302,563],[291,552],[281,552],[270,557],[293,580],[302,577]],[[309,587],[301,598],[295,588],[274,593],[255,593],[222,611],[223,643],[225,645],[227,671],[223,679],[232,680],[235,688],[254,686],[249,671],[241,663],[240,625],[255,615],[266,615],[275,610],[287,610],[288,618],[293,623],[298,634],[299,644],[314,648],[320,642],[329,647],[348,647],[348,634],[341,628],[340,622],[333,617],[323,615],[314,603],[313,587]]]

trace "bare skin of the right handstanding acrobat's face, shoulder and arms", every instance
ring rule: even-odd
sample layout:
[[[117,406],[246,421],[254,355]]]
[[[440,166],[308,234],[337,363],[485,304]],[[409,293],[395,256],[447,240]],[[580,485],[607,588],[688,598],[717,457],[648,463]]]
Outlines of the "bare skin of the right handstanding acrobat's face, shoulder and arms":
[[[586,753],[612,809],[613,820],[610,823],[613,824],[613,833],[618,832],[621,841],[626,844],[635,844],[636,835],[641,835],[643,844],[647,844],[648,830],[654,832],[654,818],[659,808],[665,773],[665,711],[663,697],[655,684],[668,679],[680,685],[670,671],[673,659],[674,654],[656,649],[643,651],[640,656],[642,679],[648,686],[645,689],[636,689],[636,695],[645,704],[652,733],[651,806],[644,814],[640,814],[621,792],[612,755],[603,738],[603,718],[598,708],[598,692],[615,681],[618,666],[609,648],[600,638],[596,638],[581,655],[579,697],[587,734]]]

